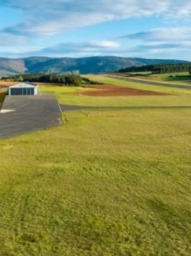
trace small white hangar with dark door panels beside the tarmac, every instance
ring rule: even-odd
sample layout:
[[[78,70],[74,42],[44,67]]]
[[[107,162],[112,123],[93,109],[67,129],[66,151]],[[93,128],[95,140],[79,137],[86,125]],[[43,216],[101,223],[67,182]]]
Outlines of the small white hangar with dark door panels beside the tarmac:
[[[38,85],[25,81],[21,84],[15,84],[9,87],[8,95],[36,95],[38,92]]]

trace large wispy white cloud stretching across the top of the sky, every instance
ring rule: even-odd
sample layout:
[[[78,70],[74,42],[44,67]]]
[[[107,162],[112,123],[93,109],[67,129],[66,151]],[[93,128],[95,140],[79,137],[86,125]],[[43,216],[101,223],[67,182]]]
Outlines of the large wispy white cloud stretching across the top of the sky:
[[[190,0],[7,0],[4,4],[25,13],[20,24],[4,28],[4,32],[17,35],[55,35],[129,17],[158,15],[178,19],[191,15]]]

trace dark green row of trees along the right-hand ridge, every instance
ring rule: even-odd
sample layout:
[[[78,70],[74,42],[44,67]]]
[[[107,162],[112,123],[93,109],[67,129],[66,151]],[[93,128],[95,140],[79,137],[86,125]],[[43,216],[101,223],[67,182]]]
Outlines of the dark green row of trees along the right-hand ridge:
[[[191,70],[191,63],[164,63],[153,64],[147,66],[131,66],[129,68],[120,69],[118,72],[143,72],[151,71],[152,74],[164,74],[174,72],[186,72]]]

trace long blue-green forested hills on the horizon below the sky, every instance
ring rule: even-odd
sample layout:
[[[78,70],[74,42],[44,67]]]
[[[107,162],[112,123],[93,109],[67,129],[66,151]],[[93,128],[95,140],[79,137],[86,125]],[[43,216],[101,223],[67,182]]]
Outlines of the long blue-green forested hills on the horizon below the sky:
[[[114,72],[130,66],[151,65],[154,63],[185,63],[188,61],[123,58],[115,56],[97,56],[87,58],[0,58],[0,76],[30,73],[64,73],[79,71],[80,74],[100,74]]]

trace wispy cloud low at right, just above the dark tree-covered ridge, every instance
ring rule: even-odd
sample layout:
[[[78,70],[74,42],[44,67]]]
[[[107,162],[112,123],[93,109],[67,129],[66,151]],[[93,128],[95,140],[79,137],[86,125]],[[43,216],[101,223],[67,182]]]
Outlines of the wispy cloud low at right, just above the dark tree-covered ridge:
[[[153,30],[124,35],[120,39],[133,41],[131,53],[138,56],[181,56],[189,58],[191,50],[191,27],[157,28]],[[169,58],[169,57],[168,57]],[[179,58],[179,57],[178,57]]]

